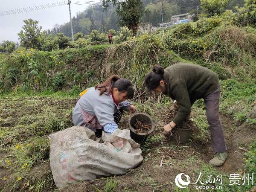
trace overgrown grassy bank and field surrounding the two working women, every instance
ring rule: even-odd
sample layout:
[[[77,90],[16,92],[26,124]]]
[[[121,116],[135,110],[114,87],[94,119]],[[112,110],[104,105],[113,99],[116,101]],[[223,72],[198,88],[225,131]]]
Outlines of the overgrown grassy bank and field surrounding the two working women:
[[[256,121],[247,117],[256,105],[255,52],[255,30],[227,25],[221,17],[213,17],[113,46],[53,52],[28,49],[0,55],[0,190],[56,188],[49,168],[47,136],[72,126],[72,110],[79,93],[111,74],[131,79],[134,105],[138,111],[150,114],[157,124],[142,146],[143,165],[114,181],[84,182],[64,190],[97,191],[93,186],[101,190],[116,186],[117,191],[179,191],[172,181],[181,171],[190,175],[222,173],[225,182],[230,172],[255,172],[256,138],[252,132],[256,130]],[[171,99],[162,96],[152,99],[156,102],[145,101],[145,74],[154,64],[167,67],[178,61],[207,67],[221,79],[220,112],[230,146],[231,162],[227,164],[236,163],[232,169],[221,170],[207,164],[213,151],[203,100],[195,102],[192,108],[198,128],[193,130],[189,143],[181,146],[173,145],[162,135],[166,123],[163,116],[172,105]],[[128,113],[122,119],[122,128],[128,128]],[[240,146],[247,150],[246,154],[235,153]],[[165,164],[159,168],[163,156]],[[246,191],[251,187],[227,185],[221,191]]]

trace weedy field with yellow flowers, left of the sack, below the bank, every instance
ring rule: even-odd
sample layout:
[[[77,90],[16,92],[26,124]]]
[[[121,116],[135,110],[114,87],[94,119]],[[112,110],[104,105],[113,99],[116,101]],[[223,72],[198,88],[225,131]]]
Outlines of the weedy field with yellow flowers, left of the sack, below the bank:
[[[17,191],[23,187],[39,192],[52,188],[47,136],[72,126],[76,104],[76,99],[64,98],[1,97],[0,167],[8,171],[0,178],[7,181],[0,189]]]

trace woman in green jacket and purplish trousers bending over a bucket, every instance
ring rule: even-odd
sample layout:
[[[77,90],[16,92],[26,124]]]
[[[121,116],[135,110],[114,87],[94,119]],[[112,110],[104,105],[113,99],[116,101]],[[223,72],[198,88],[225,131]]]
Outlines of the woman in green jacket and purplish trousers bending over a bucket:
[[[178,63],[165,70],[156,65],[153,71],[145,76],[145,85],[148,90],[163,93],[175,100],[177,114],[163,127],[164,134],[170,134],[175,125],[183,122],[189,115],[193,103],[204,98],[212,147],[215,151],[215,157],[209,163],[212,166],[221,166],[227,159],[227,146],[219,118],[220,85],[217,74],[195,64]]]

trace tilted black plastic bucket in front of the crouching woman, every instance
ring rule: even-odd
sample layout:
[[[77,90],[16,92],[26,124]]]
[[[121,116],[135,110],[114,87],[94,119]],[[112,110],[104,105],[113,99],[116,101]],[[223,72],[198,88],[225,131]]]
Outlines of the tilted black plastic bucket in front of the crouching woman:
[[[138,121],[151,125],[151,129],[144,133],[136,133],[134,125]],[[129,119],[131,138],[137,143],[143,143],[147,139],[148,135],[154,130],[153,119],[147,113],[134,113]]]

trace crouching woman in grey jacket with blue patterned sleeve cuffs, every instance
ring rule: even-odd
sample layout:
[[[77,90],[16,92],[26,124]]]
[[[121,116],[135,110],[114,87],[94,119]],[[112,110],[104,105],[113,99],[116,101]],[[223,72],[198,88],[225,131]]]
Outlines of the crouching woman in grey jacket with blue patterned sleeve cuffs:
[[[90,128],[96,137],[101,137],[102,130],[111,134],[118,129],[123,110],[136,111],[131,102],[125,101],[134,96],[131,81],[118,76],[84,90],[80,96],[73,110],[73,123]]]

